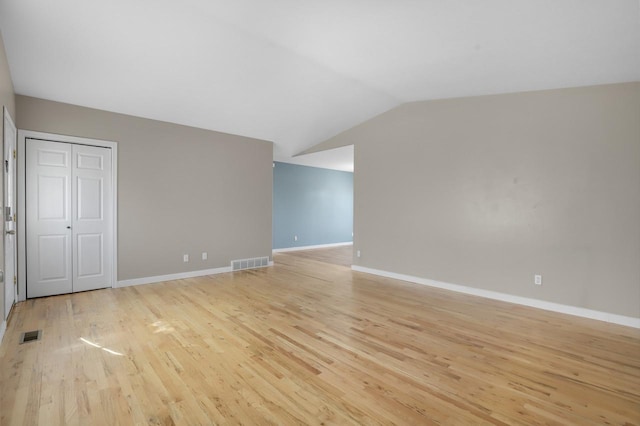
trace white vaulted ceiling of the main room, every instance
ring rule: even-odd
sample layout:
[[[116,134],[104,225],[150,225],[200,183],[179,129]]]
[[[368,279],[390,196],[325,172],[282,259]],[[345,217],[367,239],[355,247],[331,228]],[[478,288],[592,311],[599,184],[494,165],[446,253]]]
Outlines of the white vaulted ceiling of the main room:
[[[0,0],[0,29],[19,94],[288,162],[407,101],[640,80],[638,0]]]

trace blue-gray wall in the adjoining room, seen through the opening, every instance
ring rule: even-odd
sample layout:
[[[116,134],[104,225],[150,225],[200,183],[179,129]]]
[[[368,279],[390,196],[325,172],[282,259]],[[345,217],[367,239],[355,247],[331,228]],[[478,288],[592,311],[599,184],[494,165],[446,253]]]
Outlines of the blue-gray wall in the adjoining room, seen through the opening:
[[[351,241],[353,173],[275,162],[273,248]]]

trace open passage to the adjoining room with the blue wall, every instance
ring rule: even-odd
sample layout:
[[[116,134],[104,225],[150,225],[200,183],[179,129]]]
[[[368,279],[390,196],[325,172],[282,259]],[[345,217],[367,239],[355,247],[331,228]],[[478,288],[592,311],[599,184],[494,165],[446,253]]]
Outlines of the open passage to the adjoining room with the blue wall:
[[[353,245],[353,164],[353,146],[273,163],[274,253],[309,251],[351,266],[353,256],[342,252]],[[339,249],[322,255],[330,248]]]

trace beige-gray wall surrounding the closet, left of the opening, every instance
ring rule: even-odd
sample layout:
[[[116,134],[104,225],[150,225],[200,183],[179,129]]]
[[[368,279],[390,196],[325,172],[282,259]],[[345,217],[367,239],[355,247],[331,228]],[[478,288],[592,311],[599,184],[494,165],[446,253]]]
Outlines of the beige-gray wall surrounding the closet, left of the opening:
[[[271,255],[271,142],[25,96],[16,104],[20,129],[118,142],[119,280]]]

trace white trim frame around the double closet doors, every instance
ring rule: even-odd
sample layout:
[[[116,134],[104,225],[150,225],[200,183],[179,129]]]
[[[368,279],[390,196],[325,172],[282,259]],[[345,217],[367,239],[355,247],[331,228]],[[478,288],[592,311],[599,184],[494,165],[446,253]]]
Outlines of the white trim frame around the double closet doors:
[[[27,297],[27,250],[25,246],[25,176],[26,176],[26,141],[27,139],[42,139],[53,142],[66,142],[79,145],[100,146],[111,148],[112,153],[112,187],[113,187],[113,274],[111,287],[118,282],[118,144],[98,139],[79,138],[75,136],[56,135],[53,133],[18,130],[18,301]]]

